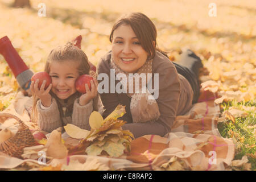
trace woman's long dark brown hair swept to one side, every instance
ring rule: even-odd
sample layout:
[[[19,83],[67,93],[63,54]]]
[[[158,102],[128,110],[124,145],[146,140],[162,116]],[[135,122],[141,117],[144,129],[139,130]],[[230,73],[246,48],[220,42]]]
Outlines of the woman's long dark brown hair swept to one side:
[[[157,32],[155,24],[142,13],[131,13],[119,18],[112,28],[109,37],[110,42],[113,40],[114,31],[123,24],[131,26],[139,42],[141,42],[142,48],[148,53],[148,59],[154,58],[156,50],[165,53],[156,48]]]

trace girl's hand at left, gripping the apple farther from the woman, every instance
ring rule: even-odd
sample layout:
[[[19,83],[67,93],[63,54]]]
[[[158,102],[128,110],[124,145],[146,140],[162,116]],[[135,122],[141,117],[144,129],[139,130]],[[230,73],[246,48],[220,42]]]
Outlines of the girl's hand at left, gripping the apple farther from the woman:
[[[46,90],[44,90],[44,86],[46,86],[46,80],[43,81],[40,89],[38,88],[38,84],[39,79],[37,79],[35,82],[32,81],[30,84],[30,92],[40,98],[41,103],[44,107],[51,106],[52,96],[51,94],[49,94],[49,91],[52,88],[52,84],[50,84]]]

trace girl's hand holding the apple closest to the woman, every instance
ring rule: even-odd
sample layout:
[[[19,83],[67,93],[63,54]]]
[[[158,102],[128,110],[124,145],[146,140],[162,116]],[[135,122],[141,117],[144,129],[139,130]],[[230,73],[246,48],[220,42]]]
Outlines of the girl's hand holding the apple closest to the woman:
[[[93,80],[90,80],[91,90],[89,89],[89,86],[85,84],[85,90],[86,93],[82,94],[82,96],[79,98],[79,104],[81,106],[84,106],[90,102],[94,97],[98,94],[98,81],[96,78],[93,78]]]

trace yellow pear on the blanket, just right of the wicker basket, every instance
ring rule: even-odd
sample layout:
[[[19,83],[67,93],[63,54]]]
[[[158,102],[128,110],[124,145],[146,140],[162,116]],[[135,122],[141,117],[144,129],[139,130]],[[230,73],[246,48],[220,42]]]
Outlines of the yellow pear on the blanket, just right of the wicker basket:
[[[58,130],[53,130],[49,139],[47,140],[46,155],[55,159],[63,159],[68,155],[68,150],[61,142],[61,133]]]

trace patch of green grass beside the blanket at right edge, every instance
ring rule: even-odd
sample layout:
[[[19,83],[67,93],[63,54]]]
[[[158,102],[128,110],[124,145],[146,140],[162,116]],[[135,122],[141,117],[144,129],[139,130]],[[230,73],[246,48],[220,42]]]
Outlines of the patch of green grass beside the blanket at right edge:
[[[249,102],[237,102],[235,100],[229,102],[223,102],[221,105],[221,113],[228,110],[230,107],[236,107],[237,109],[244,110],[243,106],[255,107],[255,101]],[[218,123],[218,130],[224,138],[232,138],[236,144],[236,151],[234,160],[242,159],[242,156],[246,154],[254,154],[256,152],[256,138],[254,137],[254,128],[250,126],[256,125],[255,111],[244,110],[247,113],[245,118],[235,117],[232,122],[230,119],[226,119],[224,122]],[[256,169],[256,159],[247,155],[249,163],[251,164],[251,170]],[[242,169],[242,168],[241,168]]]

